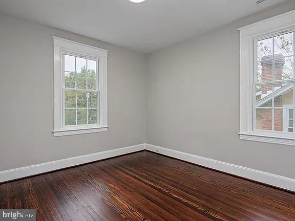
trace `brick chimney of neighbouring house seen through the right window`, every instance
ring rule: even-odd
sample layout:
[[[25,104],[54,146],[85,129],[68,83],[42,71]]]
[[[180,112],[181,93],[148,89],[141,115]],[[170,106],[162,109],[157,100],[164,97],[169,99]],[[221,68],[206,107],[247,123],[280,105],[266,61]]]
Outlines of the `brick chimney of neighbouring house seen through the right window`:
[[[275,55],[275,68],[272,70],[272,55],[264,56],[261,59],[261,66],[262,66],[262,73],[261,73],[261,80],[264,81],[272,81],[272,71],[273,73],[273,80],[282,80],[283,76],[283,66],[285,64],[285,59],[283,58],[282,54]],[[272,93],[272,86],[282,86],[282,84],[276,85],[262,85],[261,86],[261,93],[267,94],[267,91],[271,91]],[[276,106],[282,106],[282,96],[278,96],[275,98]],[[279,108],[274,109],[274,117],[275,117],[275,130],[282,131],[283,130],[283,119],[282,119],[283,110]],[[263,109],[262,113],[262,129],[265,130],[272,130],[272,115],[269,109]]]

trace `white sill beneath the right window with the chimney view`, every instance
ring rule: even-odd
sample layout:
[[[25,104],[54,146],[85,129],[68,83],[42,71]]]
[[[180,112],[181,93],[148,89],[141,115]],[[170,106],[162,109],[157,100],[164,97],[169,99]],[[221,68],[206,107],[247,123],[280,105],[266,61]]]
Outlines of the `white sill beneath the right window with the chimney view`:
[[[245,133],[239,133],[239,135],[241,140],[295,146],[295,137],[286,138],[286,137],[279,137],[279,136],[267,136],[267,135],[245,134]]]

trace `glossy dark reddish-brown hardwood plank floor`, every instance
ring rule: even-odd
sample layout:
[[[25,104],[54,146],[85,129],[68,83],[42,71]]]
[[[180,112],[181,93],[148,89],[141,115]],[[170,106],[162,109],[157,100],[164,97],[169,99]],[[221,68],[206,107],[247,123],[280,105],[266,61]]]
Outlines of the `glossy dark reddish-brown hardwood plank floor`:
[[[0,185],[37,220],[295,220],[295,194],[142,151]]]

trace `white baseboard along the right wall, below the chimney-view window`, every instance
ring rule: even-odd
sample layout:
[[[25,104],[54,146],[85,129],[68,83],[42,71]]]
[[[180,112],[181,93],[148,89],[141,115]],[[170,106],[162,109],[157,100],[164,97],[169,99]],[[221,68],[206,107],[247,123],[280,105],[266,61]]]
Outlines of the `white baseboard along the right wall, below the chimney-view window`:
[[[199,157],[193,154],[180,152],[180,151],[172,150],[172,149],[167,149],[164,147],[159,147],[159,146],[155,146],[151,144],[145,144],[145,149],[163,154],[168,157],[173,157],[176,159],[184,160],[187,162],[191,162],[191,163],[205,166],[208,168],[216,169],[226,173],[238,175],[250,180],[269,184],[271,186],[276,186],[282,189],[295,191],[295,179],[287,178],[285,176],[280,176],[280,175],[276,175],[276,174],[272,174],[268,172],[263,172],[260,170],[238,166],[235,164],[229,164],[222,161]]]

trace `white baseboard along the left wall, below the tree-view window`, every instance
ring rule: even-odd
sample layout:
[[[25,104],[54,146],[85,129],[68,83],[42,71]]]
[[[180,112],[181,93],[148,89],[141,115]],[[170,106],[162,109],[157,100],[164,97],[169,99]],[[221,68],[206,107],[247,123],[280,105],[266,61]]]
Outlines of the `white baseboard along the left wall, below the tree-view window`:
[[[67,167],[72,167],[80,164],[90,163],[107,158],[117,157],[123,154],[132,153],[145,149],[145,144],[123,147],[113,150],[91,153],[83,156],[51,161],[47,163],[36,164],[32,166],[20,167],[16,169],[0,171],[0,183],[11,181],[19,178],[24,178],[39,173],[45,173]]]

